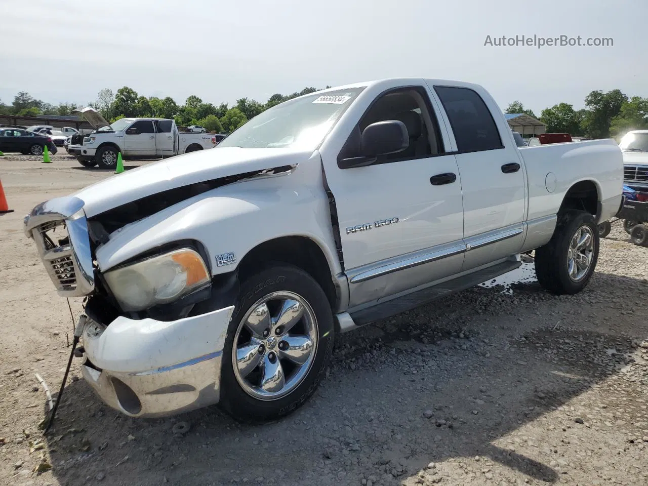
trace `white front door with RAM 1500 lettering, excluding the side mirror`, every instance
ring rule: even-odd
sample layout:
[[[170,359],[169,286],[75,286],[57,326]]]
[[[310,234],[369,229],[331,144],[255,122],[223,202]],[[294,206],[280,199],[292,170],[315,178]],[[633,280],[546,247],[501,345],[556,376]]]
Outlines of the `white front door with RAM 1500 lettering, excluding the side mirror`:
[[[461,269],[465,252],[461,182],[438,119],[425,86],[389,89],[373,98],[341,152],[322,152],[335,198],[351,308]],[[388,120],[404,123],[408,148],[378,156],[365,167],[344,168],[341,159],[362,156],[364,129]]]

